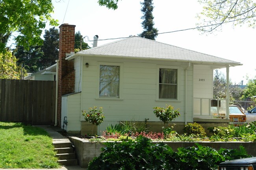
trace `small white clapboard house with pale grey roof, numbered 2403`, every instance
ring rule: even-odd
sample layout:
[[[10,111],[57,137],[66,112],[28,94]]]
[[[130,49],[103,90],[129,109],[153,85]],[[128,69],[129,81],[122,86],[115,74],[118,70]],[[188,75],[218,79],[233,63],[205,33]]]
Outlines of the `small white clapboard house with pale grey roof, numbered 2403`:
[[[119,121],[148,119],[161,127],[153,107],[169,104],[179,108],[176,124],[212,118],[213,69],[227,68],[228,80],[229,67],[242,65],[141,37],[80,51],[65,60],[74,63],[75,82],[74,93],[62,95],[61,121],[67,117],[65,129],[82,135],[88,130],[81,111],[93,106],[102,107],[105,115],[98,134]]]

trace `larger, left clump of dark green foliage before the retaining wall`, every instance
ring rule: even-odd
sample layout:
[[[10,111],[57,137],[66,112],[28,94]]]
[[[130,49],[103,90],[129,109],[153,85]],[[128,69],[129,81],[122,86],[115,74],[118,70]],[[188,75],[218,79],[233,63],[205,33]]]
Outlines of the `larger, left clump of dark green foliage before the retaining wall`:
[[[146,137],[120,144],[106,143],[103,153],[89,163],[87,170],[171,170],[177,169],[173,150],[163,144],[152,144]]]

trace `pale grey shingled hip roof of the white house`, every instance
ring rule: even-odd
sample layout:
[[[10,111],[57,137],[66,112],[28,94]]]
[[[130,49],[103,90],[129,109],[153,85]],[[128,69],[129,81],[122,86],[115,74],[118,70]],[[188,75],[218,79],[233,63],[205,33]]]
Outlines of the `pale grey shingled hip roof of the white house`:
[[[141,37],[129,37],[102,46],[80,51],[66,58],[73,59],[77,55],[102,57],[145,58],[155,60],[172,60],[194,63],[221,64],[230,66],[242,65],[239,62],[227,60],[213,55],[199,53],[169,44]]]

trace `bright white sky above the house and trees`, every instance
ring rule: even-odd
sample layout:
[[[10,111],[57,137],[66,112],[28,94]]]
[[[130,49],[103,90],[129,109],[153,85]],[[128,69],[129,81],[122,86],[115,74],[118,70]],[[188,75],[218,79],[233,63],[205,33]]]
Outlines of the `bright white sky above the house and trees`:
[[[143,31],[139,0],[121,0],[117,10],[100,7],[97,0],[52,2],[52,16],[59,20],[59,24],[76,25],[76,31],[80,31],[84,37],[88,36],[90,40],[95,35],[99,39],[108,39],[138,35]],[[154,26],[159,30],[158,33],[193,28],[199,22],[196,16],[202,11],[202,6],[197,0],[153,0],[153,3]],[[236,84],[243,80],[245,84],[247,76],[252,79],[256,75],[255,31],[246,26],[233,27],[232,24],[226,24],[222,31],[210,35],[194,29],[161,34],[156,41],[241,62],[243,66],[230,68],[230,79]],[[98,41],[98,46],[112,41],[115,40]],[[91,42],[87,43],[92,46]],[[220,71],[225,73],[225,69]]]

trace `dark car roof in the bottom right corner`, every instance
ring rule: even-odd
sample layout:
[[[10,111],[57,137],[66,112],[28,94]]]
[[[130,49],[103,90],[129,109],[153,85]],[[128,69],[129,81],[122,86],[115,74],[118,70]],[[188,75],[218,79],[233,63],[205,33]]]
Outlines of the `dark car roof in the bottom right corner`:
[[[222,162],[219,164],[219,170],[256,170],[256,157]]]

